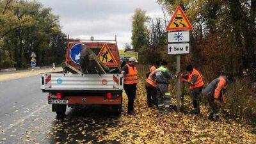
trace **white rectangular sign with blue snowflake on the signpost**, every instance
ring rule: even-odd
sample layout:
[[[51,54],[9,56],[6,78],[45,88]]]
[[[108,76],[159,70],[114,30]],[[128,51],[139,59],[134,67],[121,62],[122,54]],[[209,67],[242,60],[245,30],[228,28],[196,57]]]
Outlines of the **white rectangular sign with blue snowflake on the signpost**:
[[[168,42],[189,42],[189,31],[168,32]]]

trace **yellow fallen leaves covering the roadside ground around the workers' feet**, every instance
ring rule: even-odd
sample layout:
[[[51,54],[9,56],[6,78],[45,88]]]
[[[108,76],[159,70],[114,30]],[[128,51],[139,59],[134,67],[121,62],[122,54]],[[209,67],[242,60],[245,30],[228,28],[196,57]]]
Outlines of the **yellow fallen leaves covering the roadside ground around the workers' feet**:
[[[202,105],[202,115],[159,112],[146,105],[145,90],[138,86],[136,116],[122,115],[120,127],[107,128],[106,140],[122,143],[256,143],[252,126],[237,124],[230,120],[211,122],[207,119],[207,108]],[[127,100],[124,100],[126,106]],[[174,101],[172,102],[174,103]],[[192,105],[189,101],[186,105]],[[191,106],[186,106],[192,109]],[[126,110],[124,108],[124,110]]]

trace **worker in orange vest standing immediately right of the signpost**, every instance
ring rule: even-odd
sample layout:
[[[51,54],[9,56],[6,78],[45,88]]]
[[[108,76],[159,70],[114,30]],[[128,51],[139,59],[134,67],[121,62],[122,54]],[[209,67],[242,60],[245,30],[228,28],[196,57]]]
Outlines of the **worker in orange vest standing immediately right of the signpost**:
[[[193,68],[192,65],[188,65],[186,70],[188,74],[182,74],[181,76],[182,81],[190,84],[189,86],[190,97],[192,97],[193,99],[192,102],[194,107],[193,113],[200,114],[199,95],[200,95],[200,92],[202,92],[203,90],[204,81],[200,72],[198,72],[198,70]]]

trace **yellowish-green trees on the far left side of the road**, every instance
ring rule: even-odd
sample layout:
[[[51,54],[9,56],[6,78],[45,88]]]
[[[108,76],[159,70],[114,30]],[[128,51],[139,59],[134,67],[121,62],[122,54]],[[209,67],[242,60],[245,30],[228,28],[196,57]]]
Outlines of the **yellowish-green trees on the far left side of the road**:
[[[0,12],[4,67],[29,67],[31,52],[36,53],[39,66],[63,61],[66,38],[51,8],[37,1],[5,0],[0,2]]]

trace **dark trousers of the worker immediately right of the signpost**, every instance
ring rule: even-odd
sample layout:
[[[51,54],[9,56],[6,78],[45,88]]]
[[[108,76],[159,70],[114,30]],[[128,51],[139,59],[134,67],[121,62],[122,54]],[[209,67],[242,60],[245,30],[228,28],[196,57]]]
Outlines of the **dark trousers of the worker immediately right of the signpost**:
[[[195,109],[195,113],[200,113],[200,92],[202,92],[203,87],[199,87],[199,88],[193,88],[190,90],[190,95],[192,97],[192,103],[193,103],[193,107]]]

